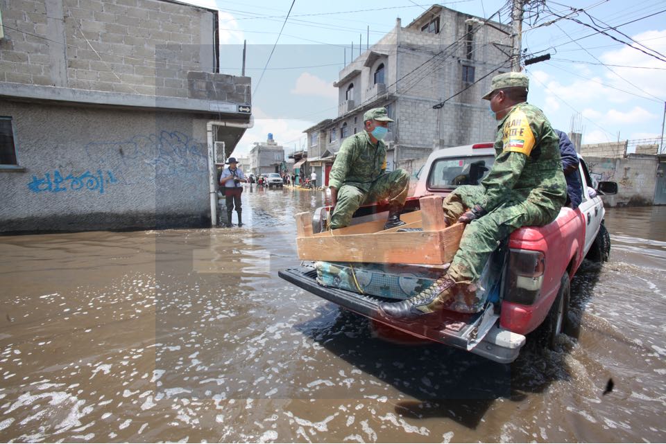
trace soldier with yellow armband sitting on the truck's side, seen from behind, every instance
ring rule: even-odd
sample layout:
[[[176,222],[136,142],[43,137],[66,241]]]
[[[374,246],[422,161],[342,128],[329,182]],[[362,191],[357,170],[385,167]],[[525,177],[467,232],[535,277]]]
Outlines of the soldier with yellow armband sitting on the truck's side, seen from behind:
[[[443,308],[478,310],[477,282],[500,240],[524,226],[552,222],[566,201],[558,136],[543,112],[527,103],[522,73],[493,78],[484,96],[499,121],[495,163],[479,186],[459,186],[444,200],[447,224],[466,227],[451,266],[432,287],[400,303],[382,303],[384,315],[413,318]]]

